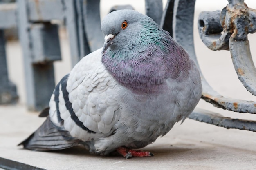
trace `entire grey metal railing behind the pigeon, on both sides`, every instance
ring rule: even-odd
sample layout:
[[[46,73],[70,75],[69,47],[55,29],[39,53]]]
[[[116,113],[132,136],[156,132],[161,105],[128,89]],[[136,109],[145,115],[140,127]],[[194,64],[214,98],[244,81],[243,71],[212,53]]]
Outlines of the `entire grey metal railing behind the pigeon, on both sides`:
[[[198,65],[193,41],[195,0],[168,0],[164,11],[162,0],[145,2],[146,14],[169,31]],[[228,0],[227,3],[222,11],[200,13],[200,38],[211,50],[230,51],[238,78],[249,92],[256,95],[256,68],[247,40],[247,34],[256,31],[256,11],[248,8],[244,0]],[[81,57],[103,44],[99,4],[100,0],[17,0],[16,4],[0,5],[0,63],[6,63],[2,30],[17,26],[26,73],[27,107],[30,110],[48,106],[55,86],[53,62],[61,60],[61,53],[58,25],[51,21],[62,20],[65,23],[74,66]],[[131,7],[115,7],[112,11],[120,8]],[[1,18],[4,15],[10,17],[8,22],[6,18]],[[0,103],[13,102],[17,99],[16,88],[8,80],[6,64],[0,68],[3,70],[0,74],[3,79],[0,83]],[[205,101],[222,109],[256,113],[256,102],[224,97],[213,90],[202,72],[201,77],[202,99]],[[7,82],[7,85],[3,82]],[[189,118],[225,128],[256,131],[256,121],[223,117],[208,110],[195,110]]]

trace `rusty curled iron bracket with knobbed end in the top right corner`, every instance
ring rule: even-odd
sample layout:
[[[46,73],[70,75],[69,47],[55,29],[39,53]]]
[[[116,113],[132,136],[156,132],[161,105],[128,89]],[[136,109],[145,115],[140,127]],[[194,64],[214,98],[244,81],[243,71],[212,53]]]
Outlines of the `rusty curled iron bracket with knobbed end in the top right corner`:
[[[256,31],[255,18],[256,10],[248,8],[244,0],[229,0],[221,12],[203,11],[198,20],[204,44],[211,50],[230,50],[238,78],[253,95],[256,95],[256,68],[247,34]]]

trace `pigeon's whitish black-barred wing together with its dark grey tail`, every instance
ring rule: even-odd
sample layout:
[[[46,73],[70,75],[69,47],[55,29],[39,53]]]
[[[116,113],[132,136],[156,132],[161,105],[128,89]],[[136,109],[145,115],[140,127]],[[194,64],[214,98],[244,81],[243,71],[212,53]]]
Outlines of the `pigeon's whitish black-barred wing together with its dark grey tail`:
[[[46,121],[19,145],[58,150],[113,133],[119,119],[118,85],[101,64],[101,51],[85,56],[61,79],[50,99]]]

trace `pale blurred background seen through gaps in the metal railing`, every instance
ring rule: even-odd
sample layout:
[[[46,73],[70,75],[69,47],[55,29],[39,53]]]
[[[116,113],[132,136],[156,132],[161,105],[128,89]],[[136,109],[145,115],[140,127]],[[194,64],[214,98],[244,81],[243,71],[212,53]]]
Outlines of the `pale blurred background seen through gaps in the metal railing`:
[[[13,2],[13,0],[2,0],[2,2]],[[167,0],[163,0],[163,9],[166,5]],[[248,7],[256,9],[255,0],[245,0]],[[101,19],[108,14],[111,7],[114,5],[124,5],[130,4],[135,10],[145,13],[145,2],[144,0],[101,0],[100,11]],[[220,94],[232,97],[235,99],[244,99],[255,101],[255,96],[249,93],[238,80],[234,66],[231,61],[231,56],[229,51],[211,51],[208,49],[201,41],[197,22],[198,15],[201,11],[216,11],[222,10],[228,4],[227,0],[196,0],[195,3],[195,17],[194,17],[194,43],[196,55],[198,57],[198,62],[204,77],[207,82]],[[14,37],[13,37],[14,33]],[[9,79],[16,84],[17,91],[19,95],[18,104],[25,105],[26,103],[26,93],[25,93],[25,73],[23,66],[22,49],[20,42],[15,38],[15,31],[6,31],[7,36],[7,66]],[[68,35],[65,26],[61,26],[59,29],[60,43],[61,43],[61,61],[54,62],[54,74],[55,82],[58,81],[72,69],[71,59],[70,59],[70,46],[68,41]],[[250,47],[252,56],[256,54],[256,35],[249,35]],[[253,58],[255,61],[255,57]],[[244,118],[245,114],[230,113],[229,111],[222,110],[219,108],[214,108],[211,104],[207,102],[200,101],[198,107],[207,110],[214,110],[218,113],[221,112],[228,116],[235,115],[237,118]],[[230,115],[232,114],[232,115]],[[246,114],[250,117],[250,115]],[[248,118],[248,117],[247,117]],[[251,118],[255,119],[255,118]]]

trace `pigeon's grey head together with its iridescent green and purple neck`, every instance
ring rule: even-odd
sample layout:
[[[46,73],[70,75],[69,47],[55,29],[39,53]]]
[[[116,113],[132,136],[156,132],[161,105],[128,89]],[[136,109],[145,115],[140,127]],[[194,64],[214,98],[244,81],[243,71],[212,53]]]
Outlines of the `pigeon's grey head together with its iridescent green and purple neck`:
[[[150,17],[118,10],[103,19],[101,29],[106,35],[101,62],[126,88],[158,93],[166,79],[188,75],[189,55]]]

